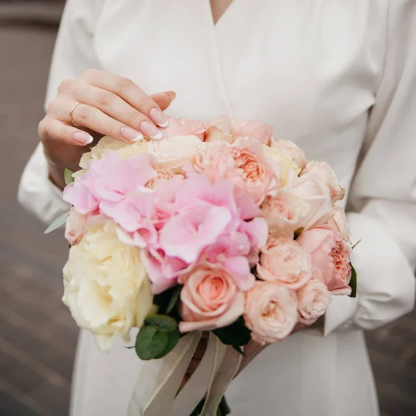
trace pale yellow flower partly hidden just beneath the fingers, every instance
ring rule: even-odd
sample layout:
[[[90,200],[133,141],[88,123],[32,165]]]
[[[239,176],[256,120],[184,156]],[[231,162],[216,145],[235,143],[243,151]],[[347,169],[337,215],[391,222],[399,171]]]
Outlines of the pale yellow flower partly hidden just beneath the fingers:
[[[84,153],[80,159],[80,167],[83,169],[88,168],[88,162],[91,159],[101,159],[105,150],[119,150],[121,157],[130,157],[132,155],[141,155],[141,153],[147,153],[148,141],[142,139],[135,143],[129,144],[125,141],[115,140],[111,137],[104,136],[96,146],[94,146],[90,152]]]

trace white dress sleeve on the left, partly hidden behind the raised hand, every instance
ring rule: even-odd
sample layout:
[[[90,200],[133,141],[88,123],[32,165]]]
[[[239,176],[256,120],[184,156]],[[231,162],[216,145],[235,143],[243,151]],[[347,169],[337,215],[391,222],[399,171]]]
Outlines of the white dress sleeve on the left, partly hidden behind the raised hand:
[[[77,78],[97,67],[94,55],[94,26],[102,0],[67,0],[49,73],[45,107],[55,98],[62,80]],[[62,192],[49,181],[42,144],[38,144],[19,184],[18,199],[45,223],[51,223],[69,209]]]

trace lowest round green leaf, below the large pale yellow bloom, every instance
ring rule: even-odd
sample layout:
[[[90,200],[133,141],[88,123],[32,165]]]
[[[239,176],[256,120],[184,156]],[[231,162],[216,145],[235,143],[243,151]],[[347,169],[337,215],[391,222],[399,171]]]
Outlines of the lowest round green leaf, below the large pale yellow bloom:
[[[166,332],[157,331],[155,327],[145,325],[137,334],[136,354],[141,360],[152,360],[164,352],[168,339]]]

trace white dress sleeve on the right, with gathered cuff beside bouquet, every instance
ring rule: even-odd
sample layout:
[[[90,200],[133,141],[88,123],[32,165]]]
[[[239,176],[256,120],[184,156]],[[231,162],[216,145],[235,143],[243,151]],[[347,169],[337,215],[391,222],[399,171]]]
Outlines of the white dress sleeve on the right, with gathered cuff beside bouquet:
[[[357,297],[333,297],[324,334],[410,312],[416,266],[416,1],[391,0],[381,85],[349,195]]]

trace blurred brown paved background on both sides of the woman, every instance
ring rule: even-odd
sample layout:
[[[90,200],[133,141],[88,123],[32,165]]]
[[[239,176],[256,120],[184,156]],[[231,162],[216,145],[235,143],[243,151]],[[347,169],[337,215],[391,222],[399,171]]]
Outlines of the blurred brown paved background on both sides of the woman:
[[[0,416],[69,409],[78,331],[61,301],[67,243],[60,232],[44,236],[16,200],[37,144],[63,4],[0,0]],[[416,310],[367,333],[367,345],[381,415],[416,415]]]

